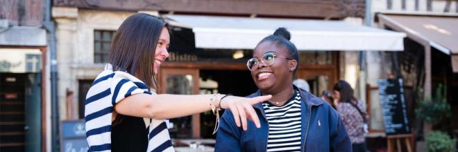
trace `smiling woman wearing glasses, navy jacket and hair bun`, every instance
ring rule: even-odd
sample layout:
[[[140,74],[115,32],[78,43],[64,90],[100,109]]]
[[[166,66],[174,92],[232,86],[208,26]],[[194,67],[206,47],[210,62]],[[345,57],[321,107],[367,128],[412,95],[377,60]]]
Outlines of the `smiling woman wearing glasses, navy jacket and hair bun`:
[[[259,90],[249,97],[272,95],[255,104],[261,128],[248,122],[239,129],[232,112],[221,117],[215,151],[351,151],[338,113],[327,102],[293,85],[299,55],[285,28],[257,44],[248,70]]]

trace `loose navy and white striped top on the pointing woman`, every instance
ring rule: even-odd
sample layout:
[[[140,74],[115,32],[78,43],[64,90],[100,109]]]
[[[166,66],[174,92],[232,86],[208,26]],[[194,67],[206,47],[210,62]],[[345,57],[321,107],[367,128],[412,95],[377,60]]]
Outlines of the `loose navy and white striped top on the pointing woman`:
[[[87,92],[85,101],[86,140],[89,151],[111,151],[113,106],[130,95],[147,93],[149,88],[137,77],[113,71],[107,64]],[[174,151],[164,120],[152,120],[148,127],[147,151]]]

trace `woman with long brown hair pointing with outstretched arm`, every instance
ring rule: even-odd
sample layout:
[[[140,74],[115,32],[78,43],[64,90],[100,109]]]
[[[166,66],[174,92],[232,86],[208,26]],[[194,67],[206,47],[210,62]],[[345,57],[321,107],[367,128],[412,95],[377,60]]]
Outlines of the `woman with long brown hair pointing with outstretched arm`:
[[[234,113],[237,126],[247,118],[260,127],[253,104],[270,99],[229,95],[157,95],[156,75],[169,57],[167,23],[137,13],[124,21],[112,41],[109,63],[96,77],[85,101],[89,151],[173,151],[164,119],[221,108]]]

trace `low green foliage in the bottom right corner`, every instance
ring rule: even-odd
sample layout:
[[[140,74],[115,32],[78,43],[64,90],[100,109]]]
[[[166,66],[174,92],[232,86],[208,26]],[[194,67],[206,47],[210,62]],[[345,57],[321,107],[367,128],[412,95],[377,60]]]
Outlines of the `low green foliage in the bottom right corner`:
[[[453,152],[455,151],[455,140],[441,131],[432,131],[426,137],[426,151]]]

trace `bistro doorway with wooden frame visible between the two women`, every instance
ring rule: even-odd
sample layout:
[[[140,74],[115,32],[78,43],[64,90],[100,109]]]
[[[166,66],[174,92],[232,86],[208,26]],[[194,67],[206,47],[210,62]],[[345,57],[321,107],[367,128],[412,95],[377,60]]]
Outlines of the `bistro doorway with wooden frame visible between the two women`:
[[[248,70],[162,68],[159,93],[195,95],[222,93],[246,96],[257,90]],[[205,113],[171,119],[172,138],[214,138],[215,116]]]

